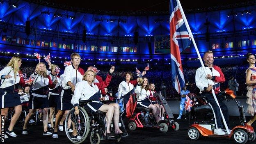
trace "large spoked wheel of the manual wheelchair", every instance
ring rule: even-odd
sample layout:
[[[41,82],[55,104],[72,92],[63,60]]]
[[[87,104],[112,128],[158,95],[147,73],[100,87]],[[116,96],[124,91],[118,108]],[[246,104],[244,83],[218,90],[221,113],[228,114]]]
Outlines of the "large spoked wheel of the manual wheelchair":
[[[78,107],[79,114],[75,115],[75,109],[72,108],[66,116],[65,133],[73,144],[82,143],[89,133],[89,116],[87,112]]]

